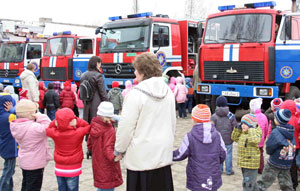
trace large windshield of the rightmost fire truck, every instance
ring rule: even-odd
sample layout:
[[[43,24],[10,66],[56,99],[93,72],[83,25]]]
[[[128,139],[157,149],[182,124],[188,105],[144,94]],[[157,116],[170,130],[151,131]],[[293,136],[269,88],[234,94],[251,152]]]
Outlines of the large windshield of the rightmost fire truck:
[[[211,18],[206,25],[204,43],[268,42],[271,40],[272,16],[239,14]]]

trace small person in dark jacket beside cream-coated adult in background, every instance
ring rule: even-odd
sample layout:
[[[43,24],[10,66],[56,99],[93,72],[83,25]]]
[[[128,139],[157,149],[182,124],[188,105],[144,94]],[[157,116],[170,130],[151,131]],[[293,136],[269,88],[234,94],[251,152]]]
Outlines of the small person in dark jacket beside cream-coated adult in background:
[[[48,91],[45,94],[43,105],[47,108],[47,115],[54,120],[56,110],[60,107],[59,96],[53,89],[53,84],[48,84]]]

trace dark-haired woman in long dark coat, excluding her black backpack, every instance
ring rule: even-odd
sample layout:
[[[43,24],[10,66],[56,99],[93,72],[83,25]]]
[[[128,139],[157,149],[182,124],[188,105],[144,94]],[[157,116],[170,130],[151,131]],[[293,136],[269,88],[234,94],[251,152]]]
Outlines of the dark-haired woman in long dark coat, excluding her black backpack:
[[[93,99],[90,102],[84,102],[83,108],[83,119],[89,123],[91,123],[93,117],[97,116],[97,109],[100,103],[108,101],[104,80],[99,72],[101,61],[101,58],[98,56],[92,56],[88,63],[88,71],[83,73],[80,79],[80,83],[83,80],[88,80],[94,90]]]

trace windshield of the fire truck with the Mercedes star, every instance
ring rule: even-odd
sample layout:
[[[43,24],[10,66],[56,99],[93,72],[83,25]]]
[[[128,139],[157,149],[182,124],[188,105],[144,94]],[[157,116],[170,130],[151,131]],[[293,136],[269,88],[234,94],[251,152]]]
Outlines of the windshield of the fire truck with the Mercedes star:
[[[146,49],[149,47],[149,26],[134,26],[104,30],[101,52]]]

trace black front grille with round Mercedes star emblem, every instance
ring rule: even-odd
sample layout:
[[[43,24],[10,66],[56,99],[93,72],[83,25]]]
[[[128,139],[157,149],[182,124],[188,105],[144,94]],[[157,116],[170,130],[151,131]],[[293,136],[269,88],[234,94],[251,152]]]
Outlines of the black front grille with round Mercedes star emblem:
[[[102,63],[101,68],[105,78],[135,78],[134,68],[131,63]]]

